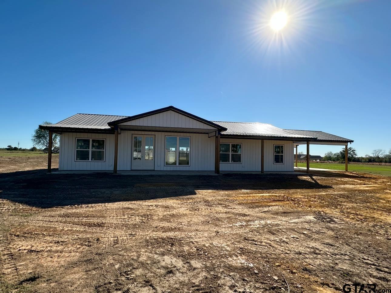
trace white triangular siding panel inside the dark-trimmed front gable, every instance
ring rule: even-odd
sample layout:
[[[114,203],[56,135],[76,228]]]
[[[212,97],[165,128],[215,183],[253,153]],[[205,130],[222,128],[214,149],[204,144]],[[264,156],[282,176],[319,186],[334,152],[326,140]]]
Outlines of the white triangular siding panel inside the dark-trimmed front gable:
[[[171,110],[124,122],[120,125],[215,129],[212,126],[204,124],[203,122],[199,122]]]

